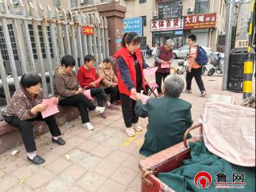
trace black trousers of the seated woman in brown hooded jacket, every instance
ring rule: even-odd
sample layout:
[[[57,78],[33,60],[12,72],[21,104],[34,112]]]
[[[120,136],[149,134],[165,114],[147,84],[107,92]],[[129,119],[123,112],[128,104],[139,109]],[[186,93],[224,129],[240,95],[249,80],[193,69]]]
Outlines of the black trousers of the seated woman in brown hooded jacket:
[[[83,94],[77,94],[70,98],[63,98],[58,102],[60,106],[77,106],[80,111],[82,123],[90,122],[90,118],[88,115],[89,110],[95,110],[96,106],[88,98],[86,98]]]

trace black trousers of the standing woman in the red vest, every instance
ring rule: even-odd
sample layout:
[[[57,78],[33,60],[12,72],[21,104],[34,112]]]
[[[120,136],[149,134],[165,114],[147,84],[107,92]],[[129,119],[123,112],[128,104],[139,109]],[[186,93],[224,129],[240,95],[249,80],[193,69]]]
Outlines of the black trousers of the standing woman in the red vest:
[[[134,107],[136,105],[136,101],[130,98],[126,94],[120,94],[121,102],[122,102],[122,117],[126,124],[127,128],[132,126],[132,123],[138,122],[138,116],[135,114]]]

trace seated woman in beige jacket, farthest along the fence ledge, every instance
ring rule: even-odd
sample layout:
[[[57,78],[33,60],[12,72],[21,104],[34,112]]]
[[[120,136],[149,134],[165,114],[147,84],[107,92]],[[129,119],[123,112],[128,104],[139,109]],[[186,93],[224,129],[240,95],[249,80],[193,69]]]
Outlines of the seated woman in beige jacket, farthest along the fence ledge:
[[[113,65],[114,58],[105,58],[103,63],[98,66],[98,77],[102,78],[100,85],[106,94],[110,94],[110,103],[114,105],[118,95],[118,78],[114,74]]]

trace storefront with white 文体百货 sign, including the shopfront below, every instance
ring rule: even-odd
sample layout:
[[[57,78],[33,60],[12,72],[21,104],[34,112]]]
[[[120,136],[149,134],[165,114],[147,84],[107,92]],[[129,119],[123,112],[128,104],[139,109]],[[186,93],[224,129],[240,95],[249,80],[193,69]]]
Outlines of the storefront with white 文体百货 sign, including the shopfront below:
[[[169,38],[175,42],[174,49],[185,43],[182,17],[151,20],[151,32],[152,46],[161,45]]]

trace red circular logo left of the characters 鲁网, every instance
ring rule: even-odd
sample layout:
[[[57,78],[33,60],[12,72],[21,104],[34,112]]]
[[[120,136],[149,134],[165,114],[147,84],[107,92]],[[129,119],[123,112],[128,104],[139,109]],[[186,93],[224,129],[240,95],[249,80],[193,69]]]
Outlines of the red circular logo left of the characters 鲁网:
[[[200,189],[209,188],[211,182],[212,178],[206,171],[201,171],[194,176],[194,184]]]

